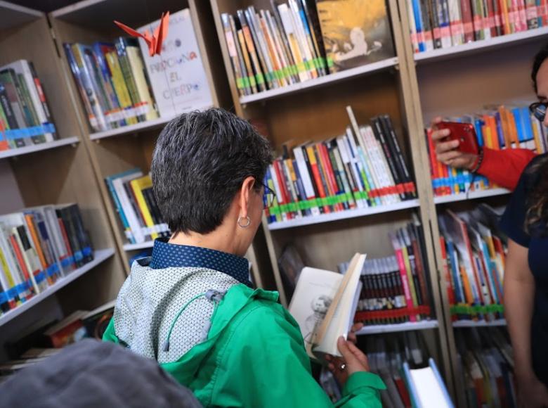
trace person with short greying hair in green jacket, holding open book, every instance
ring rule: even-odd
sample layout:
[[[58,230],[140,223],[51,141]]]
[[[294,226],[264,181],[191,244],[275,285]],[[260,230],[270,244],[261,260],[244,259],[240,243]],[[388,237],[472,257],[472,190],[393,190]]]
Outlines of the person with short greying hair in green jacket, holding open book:
[[[254,290],[242,256],[263,212],[268,142],[221,109],[183,114],[152,158],[158,205],[172,232],[133,263],[104,340],[157,360],[214,407],[330,407],[311,376],[296,321],[278,293]],[[339,339],[330,359],[344,402],[379,407],[381,379]]]

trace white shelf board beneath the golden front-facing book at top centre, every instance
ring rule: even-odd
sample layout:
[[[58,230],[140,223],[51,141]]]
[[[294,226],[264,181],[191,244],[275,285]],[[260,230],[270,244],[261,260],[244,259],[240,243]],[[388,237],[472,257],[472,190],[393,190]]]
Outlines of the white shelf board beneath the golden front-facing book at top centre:
[[[391,68],[395,65],[398,65],[398,58],[388,58],[386,60],[381,60],[377,63],[362,65],[360,67],[351,68],[350,70],[344,70],[341,72],[336,72],[334,74],[325,75],[323,77],[310,79],[305,82],[288,85],[287,87],[269,89],[268,91],[259,92],[258,94],[242,96],[240,98],[240,103],[244,105],[245,103],[267,101],[268,99],[278,98],[280,96],[285,96],[288,94],[294,94],[299,91],[305,91],[306,89],[322,87],[327,84],[333,84],[334,82],[339,82],[344,79],[359,77],[368,73],[386,70],[387,68]]]

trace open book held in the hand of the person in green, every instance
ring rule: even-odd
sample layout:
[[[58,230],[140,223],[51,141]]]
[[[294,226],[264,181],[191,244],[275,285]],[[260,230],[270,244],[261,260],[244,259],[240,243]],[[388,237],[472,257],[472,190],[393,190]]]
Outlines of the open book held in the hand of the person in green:
[[[299,323],[311,357],[341,356],[337,339],[346,338],[351,329],[360,298],[364,262],[365,255],[356,253],[344,275],[310,267],[302,270],[289,312]]]

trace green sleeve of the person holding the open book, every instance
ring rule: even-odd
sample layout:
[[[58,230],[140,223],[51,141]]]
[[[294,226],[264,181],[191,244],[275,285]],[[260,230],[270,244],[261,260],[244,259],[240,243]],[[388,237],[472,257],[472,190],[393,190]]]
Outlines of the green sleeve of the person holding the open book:
[[[281,307],[249,312],[219,357],[214,407],[333,407],[311,375],[299,327]],[[353,374],[335,407],[381,407],[379,390],[384,388],[374,374]]]

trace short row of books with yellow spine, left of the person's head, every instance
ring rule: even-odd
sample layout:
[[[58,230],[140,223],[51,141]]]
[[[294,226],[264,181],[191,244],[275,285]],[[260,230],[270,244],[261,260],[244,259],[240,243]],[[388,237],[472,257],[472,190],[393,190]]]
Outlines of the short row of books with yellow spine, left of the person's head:
[[[105,182],[130,243],[169,236],[169,227],[162,219],[149,174],[136,168],[113,174]]]

